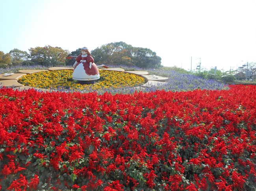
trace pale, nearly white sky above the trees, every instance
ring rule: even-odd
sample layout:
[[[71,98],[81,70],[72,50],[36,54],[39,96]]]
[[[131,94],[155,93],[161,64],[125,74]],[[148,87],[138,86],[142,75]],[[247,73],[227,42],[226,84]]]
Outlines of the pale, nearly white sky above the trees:
[[[164,66],[229,70],[256,62],[256,0],[0,0],[0,51],[70,52],[123,41]],[[201,59],[199,59],[201,58]]]

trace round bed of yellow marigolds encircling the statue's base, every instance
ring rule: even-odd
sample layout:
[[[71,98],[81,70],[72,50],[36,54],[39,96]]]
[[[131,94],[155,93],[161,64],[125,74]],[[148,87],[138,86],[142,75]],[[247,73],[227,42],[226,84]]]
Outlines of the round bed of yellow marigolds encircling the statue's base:
[[[79,84],[72,79],[71,70],[55,70],[33,73],[31,75],[22,76],[19,83],[31,87],[39,88],[64,88],[78,90],[97,90],[100,88],[110,87],[135,87],[145,83],[144,78],[123,72],[100,70],[100,79],[95,84]]]

